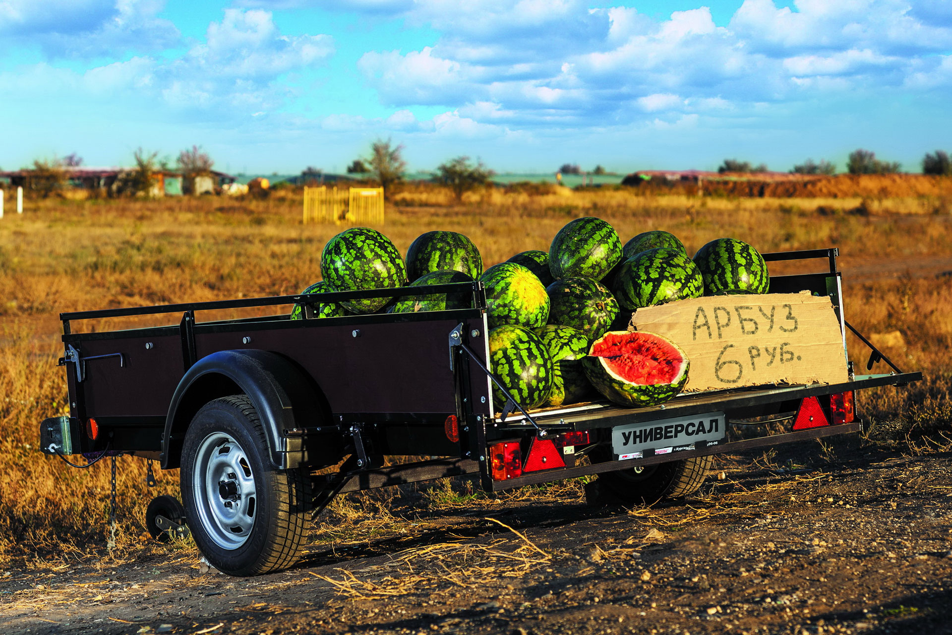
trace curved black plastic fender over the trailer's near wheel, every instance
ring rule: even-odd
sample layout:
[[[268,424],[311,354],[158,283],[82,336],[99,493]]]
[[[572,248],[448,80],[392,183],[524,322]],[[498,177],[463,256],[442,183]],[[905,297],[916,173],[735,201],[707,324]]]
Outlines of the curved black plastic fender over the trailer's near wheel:
[[[321,443],[314,444],[315,434],[306,429],[326,425],[329,408],[303,368],[267,350],[220,350],[190,367],[175,388],[162,436],[163,469],[181,465],[185,434],[199,408],[235,394],[248,395],[258,411],[275,469],[333,464],[339,459],[340,444],[331,435],[320,435]]]

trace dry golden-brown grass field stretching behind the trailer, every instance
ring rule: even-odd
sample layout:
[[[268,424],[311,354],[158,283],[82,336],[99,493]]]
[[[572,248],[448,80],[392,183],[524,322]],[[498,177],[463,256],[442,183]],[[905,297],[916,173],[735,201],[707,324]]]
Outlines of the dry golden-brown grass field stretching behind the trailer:
[[[761,251],[839,247],[847,319],[875,334],[901,367],[926,373],[921,385],[883,389],[861,407],[878,422],[898,422],[903,433],[952,430],[947,199],[694,198],[541,188],[471,194],[462,206],[451,201],[445,191],[407,189],[394,197],[379,229],[402,251],[427,230],[464,232],[486,267],[525,249],[547,250],[556,231],[580,216],[610,222],[623,242],[664,228],[691,253],[723,236]],[[63,369],[55,366],[62,355],[58,313],[296,293],[320,279],[321,248],[340,230],[303,225],[301,209],[300,193],[290,190],[266,200],[50,199],[28,201],[25,213],[8,212],[0,221],[0,565],[49,566],[104,551],[108,463],[75,470],[36,448],[37,424],[62,413],[67,396]],[[854,355],[864,367],[860,348],[853,346]],[[902,442],[920,443],[915,436]],[[144,462],[119,463],[121,523],[113,557],[126,558],[153,548],[143,537],[145,506],[152,495],[176,493],[177,472],[160,474],[159,486],[149,490]],[[446,505],[454,496],[432,494],[429,501]]]

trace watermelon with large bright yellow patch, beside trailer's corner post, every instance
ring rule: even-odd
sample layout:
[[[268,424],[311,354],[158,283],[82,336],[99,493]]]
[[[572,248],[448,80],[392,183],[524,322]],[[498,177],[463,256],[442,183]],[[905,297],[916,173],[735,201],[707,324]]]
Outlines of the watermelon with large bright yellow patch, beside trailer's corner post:
[[[489,328],[514,324],[538,328],[548,320],[548,295],[539,278],[522,265],[500,263],[480,276],[486,288]]]

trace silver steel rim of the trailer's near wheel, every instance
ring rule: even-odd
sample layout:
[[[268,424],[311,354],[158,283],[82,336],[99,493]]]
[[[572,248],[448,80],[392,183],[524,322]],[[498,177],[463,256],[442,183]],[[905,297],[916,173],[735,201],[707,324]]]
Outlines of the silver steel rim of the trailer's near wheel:
[[[192,489],[208,537],[223,549],[248,541],[257,513],[257,490],[248,454],[224,432],[212,432],[195,455]]]

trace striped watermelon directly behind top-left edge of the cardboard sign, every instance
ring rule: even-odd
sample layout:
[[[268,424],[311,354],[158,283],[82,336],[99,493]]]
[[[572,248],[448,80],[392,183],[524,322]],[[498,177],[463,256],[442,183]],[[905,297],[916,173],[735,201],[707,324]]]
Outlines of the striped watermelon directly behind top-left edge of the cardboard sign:
[[[654,248],[625,261],[612,287],[622,308],[661,305],[704,295],[701,271],[681,251]]]

